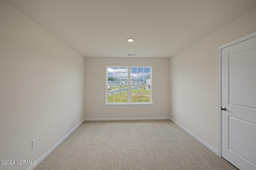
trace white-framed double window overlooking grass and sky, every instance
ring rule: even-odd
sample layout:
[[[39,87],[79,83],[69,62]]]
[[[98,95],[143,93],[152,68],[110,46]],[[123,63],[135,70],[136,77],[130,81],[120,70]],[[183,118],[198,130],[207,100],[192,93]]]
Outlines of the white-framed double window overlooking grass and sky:
[[[152,104],[152,66],[106,66],[106,104]]]

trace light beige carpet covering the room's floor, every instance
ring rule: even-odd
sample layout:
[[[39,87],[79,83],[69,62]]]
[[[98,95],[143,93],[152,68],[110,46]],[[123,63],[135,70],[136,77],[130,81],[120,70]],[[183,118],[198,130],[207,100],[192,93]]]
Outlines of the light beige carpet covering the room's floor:
[[[85,121],[34,170],[237,170],[170,120]]]

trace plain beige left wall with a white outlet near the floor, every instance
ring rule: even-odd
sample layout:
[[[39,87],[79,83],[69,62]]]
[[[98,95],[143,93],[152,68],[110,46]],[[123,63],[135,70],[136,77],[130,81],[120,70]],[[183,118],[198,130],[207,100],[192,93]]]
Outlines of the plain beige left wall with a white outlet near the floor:
[[[0,160],[37,160],[84,119],[84,74],[84,57],[0,0]]]

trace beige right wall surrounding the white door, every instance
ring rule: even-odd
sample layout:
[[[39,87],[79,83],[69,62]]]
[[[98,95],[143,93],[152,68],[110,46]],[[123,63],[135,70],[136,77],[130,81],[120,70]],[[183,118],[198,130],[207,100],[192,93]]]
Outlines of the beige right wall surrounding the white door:
[[[256,9],[170,58],[170,117],[216,150],[218,46],[254,31]]]

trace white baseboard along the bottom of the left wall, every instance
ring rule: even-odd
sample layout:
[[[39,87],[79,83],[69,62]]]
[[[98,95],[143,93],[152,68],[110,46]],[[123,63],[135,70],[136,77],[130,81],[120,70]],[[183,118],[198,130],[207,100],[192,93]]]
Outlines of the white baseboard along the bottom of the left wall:
[[[58,147],[58,145],[60,145],[60,143],[62,143],[62,141],[64,141],[84,121],[85,121],[85,119],[83,119],[80,123],[78,123],[78,125],[76,125],[71,131],[69,131],[62,139],[60,139],[60,141],[58,141],[55,145],[53,145],[53,147],[51,147],[47,152],[45,152],[38,160],[36,160],[36,164],[31,165],[30,167],[28,167],[27,170],[34,169],[48,154],[50,154],[50,152],[52,152],[52,150],[54,150],[56,147]]]

